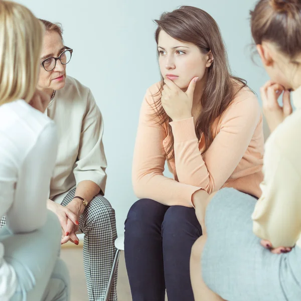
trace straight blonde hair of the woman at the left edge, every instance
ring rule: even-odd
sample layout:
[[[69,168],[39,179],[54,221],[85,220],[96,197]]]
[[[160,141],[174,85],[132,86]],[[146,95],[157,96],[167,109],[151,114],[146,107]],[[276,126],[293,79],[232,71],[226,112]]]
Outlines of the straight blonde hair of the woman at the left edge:
[[[29,9],[0,1],[0,105],[33,97],[44,31]]]

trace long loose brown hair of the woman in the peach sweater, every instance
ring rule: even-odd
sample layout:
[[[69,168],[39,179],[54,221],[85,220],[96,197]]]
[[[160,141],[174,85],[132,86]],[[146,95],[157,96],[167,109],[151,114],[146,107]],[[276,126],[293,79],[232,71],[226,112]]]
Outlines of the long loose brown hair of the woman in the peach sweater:
[[[198,139],[202,133],[205,137],[203,151],[205,154],[214,139],[213,122],[227,109],[234,95],[246,86],[246,81],[230,74],[226,49],[219,27],[205,11],[195,7],[182,6],[173,12],[163,13],[160,20],[155,20],[155,22],[158,25],[155,33],[157,44],[160,32],[165,31],[176,40],[195,44],[203,54],[207,54],[210,50],[213,54],[214,61],[207,68],[207,83],[200,99],[202,112],[195,125]],[[235,88],[235,83],[239,89]],[[164,80],[161,76],[161,87],[157,96],[161,95],[163,86]],[[168,123],[171,120],[161,104],[161,96],[155,102],[154,110],[155,116],[159,117],[160,124]],[[171,141],[167,146],[167,156],[172,159],[174,157],[174,136],[172,127],[169,124],[168,126]]]

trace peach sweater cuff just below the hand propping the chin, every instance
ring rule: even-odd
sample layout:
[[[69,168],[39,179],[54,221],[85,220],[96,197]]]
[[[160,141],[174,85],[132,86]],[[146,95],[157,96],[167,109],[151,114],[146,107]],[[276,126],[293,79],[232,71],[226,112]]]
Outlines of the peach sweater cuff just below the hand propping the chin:
[[[193,117],[172,121],[170,125],[173,129],[175,142],[185,142],[197,139]]]

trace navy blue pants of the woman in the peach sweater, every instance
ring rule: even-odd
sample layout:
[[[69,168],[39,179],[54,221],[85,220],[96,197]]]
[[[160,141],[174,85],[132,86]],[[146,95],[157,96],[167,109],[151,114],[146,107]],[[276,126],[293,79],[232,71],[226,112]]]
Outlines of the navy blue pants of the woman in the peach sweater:
[[[124,254],[133,301],[193,301],[189,261],[202,235],[195,209],[142,199],[125,221]]]

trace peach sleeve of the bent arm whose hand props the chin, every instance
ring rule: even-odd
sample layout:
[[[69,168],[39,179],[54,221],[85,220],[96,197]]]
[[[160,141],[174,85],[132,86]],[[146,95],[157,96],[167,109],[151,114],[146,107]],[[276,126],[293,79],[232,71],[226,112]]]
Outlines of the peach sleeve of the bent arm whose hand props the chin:
[[[209,194],[219,190],[244,156],[260,121],[255,95],[232,104],[222,116],[220,131],[202,156],[194,119],[171,122],[179,182],[201,187]]]

